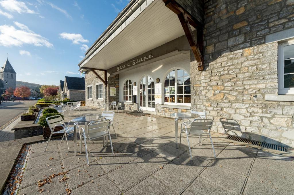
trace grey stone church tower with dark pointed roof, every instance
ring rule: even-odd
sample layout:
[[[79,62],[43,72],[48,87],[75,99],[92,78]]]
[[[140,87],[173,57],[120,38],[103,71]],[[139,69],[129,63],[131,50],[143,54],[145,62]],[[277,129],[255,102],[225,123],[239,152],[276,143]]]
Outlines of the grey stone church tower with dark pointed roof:
[[[13,89],[16,88],[16,72],[12,68],[10,62],[8,61],[8,58],[6,59],[4,65],[0,68],[0,79],[7,81],[7,85],[4,84],[5,89],[10,87],[12,87]]]

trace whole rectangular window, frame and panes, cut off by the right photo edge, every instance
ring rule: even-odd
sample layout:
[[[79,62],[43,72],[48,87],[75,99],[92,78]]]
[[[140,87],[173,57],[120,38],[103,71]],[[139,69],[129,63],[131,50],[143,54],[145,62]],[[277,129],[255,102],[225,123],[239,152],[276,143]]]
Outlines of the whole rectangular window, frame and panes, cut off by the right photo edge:
[[[278,93],[294,94],[294,40],[278,47]]]

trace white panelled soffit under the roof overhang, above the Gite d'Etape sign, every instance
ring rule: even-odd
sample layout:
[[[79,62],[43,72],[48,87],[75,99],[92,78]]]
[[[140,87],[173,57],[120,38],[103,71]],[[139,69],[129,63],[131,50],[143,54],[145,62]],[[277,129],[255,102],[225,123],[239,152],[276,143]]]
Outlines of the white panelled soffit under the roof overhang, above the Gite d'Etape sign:
[[[146,2],[141,7],[146,7]],[[137,10],[140,11],[140,7]],[[133,15],[138,14],[136,12]],[[130,18],[134,17],[133,15]],[[130,22],[128,20],[127,23]],[[155,0],[125,29],[121,31],[119,27],[80,68],[106,70],[184,34],[178,16],[168,9],[162,0]]]

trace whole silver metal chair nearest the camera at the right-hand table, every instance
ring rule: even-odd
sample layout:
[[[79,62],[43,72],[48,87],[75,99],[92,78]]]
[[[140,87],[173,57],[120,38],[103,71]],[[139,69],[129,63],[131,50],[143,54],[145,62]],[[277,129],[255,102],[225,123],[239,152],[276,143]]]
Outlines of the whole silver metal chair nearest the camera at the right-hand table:
[[[194,119],[191,122],[191,124],[189,125],[190,128],[187,128],[188,125],[182,123],[181,135],[180,135],[180,147],[181,147],[182,133],[186,133],[191,160],[193,160],[193,159],[192,159],[192,153],[191,153],[190,142],[189,142],[190,135],[198,135],[199,137],[202,136],[203,134],[208,135],[210,137],[214,158],[216,158],[216,152],[214,150],[213,142],[212,142],[212,138],[211,138],[211,134],[210,134],[212,124],[213,124],[212,119]],[[189,129],[189,133],[188,133],[188,129]],[[201,146],[201,145],[202,145],[202,137],[201,137],[201,143],[199,141],[199,146]]]

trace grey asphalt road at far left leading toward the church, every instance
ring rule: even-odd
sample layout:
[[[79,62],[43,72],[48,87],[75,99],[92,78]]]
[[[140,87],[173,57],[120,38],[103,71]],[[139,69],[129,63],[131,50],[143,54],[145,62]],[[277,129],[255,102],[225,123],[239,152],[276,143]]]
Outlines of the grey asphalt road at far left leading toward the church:
[[[37,101],[16,101],[1,102],[0,105],[0,129],[1,126],[14,119],[17,115],[28,110],[29,106],[36,104]]]

